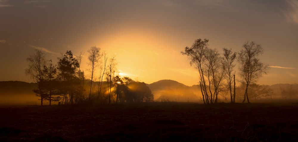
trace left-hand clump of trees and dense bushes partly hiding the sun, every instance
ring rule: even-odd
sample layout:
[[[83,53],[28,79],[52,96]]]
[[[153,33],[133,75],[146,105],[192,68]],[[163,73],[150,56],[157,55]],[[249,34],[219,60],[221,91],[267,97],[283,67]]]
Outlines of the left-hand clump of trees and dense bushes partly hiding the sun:
[[[84,53],[74,57],[72,51],[66,51],[58,57],[58,63],[46,60],[41,50],[35,50],[27,58],[26,75],[37,83],[38,89],[33,92],[40,97],[41,105],[49,101],[59,104],[111,104],[153,102],[153,94],[144,82],[136,82],[129,77],[120,78],[116,72],[115,57],[107,58],[106,53],[94,46],[88,50],[88,61],[91,80],[86,81],[81,71]],[[95,71],[99,71],[94,82]],[[96,83],[96,84],[95,84]],[[89,88],[88,88],[89,87]],[[88,93],[87,93],[88,92]]]

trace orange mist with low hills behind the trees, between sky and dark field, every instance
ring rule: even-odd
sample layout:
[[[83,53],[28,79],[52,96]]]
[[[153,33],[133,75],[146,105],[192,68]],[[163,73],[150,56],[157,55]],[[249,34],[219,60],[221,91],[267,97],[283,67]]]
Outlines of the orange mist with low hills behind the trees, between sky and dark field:
[[[35,96],[32,91],[36,89],[35,83],[20,81],[0,82],[0,105],[40,105],[40,97]],[[202,93],[198,85],[187,86],[173,80],[160,80],[147,84],[153,93],[155,102],[195,102],[203,103]],[[298,84],[276,84],[276,85],[253,85],[249,90],[252,102],[280,102],[298,99]],[[86,89],[89,86],[86,85]],[[269,91],[266,91],[269,90]],[[243,100],[245,90],[237,87],[236,102]],[[97,93],[97,86],[93,88],[93,94]],[[85,91],[88,96],[88,91]],[[229,102],[228,91],[222,92],[219,102]],[[58,102],[52,102],[58,104]],[[45,105],[49,102],[45,101]]]

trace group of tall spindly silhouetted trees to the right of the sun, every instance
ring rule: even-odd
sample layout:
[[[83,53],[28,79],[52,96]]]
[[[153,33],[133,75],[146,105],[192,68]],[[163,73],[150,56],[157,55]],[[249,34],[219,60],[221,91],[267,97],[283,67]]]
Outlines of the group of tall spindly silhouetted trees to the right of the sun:
[[[221,55],[217,49],[208,47],[209,40],[197,39],[191,47],[185,47],[183,55],[190,59],[199,72],[203,102],[217,103],[218,94],[229,91],[231,102],[235,102],[235,60],[238,61],[238,76],[245,85],[243,102],[249,103],[248,88],[268,70],[267,65],[260,62],[258,56],[263,54],[263,48],[255,42],[245,42],[240,52],[223,48]],[[232,93],[233,89],[233,93]]]

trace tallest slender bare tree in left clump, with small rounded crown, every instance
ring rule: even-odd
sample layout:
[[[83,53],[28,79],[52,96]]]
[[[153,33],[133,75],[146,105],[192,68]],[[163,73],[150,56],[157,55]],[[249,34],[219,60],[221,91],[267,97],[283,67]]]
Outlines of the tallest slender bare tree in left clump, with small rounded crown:
[[[91,66],[91,82],[90,82],[90,93],[89,93],[89,102],[90,102],[94,71],[95,71],[95,68],[97,68],[100,65],[100,58],[101,58],[100,48],[96,46],[92,46],[88,50],[88,53],[89,53],[89,56],[88,56],[89,65]]]

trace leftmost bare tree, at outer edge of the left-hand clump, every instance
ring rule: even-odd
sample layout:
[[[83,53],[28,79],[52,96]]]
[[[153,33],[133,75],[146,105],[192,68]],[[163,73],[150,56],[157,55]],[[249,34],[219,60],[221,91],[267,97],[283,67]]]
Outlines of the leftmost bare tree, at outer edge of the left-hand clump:
[[[35,54],[29,55],[27,58],[27,62],[29,63],[28,68],[25,69],[25,73],[27,76],[30,76],[34,82],[38,84],[38,89],[33,90],[36,96],[41,97],[41,105],[43,105],[44,100],[44,67],[46,65],[46,60],[44,57],[44,53],[41,50],[35,50]]]

